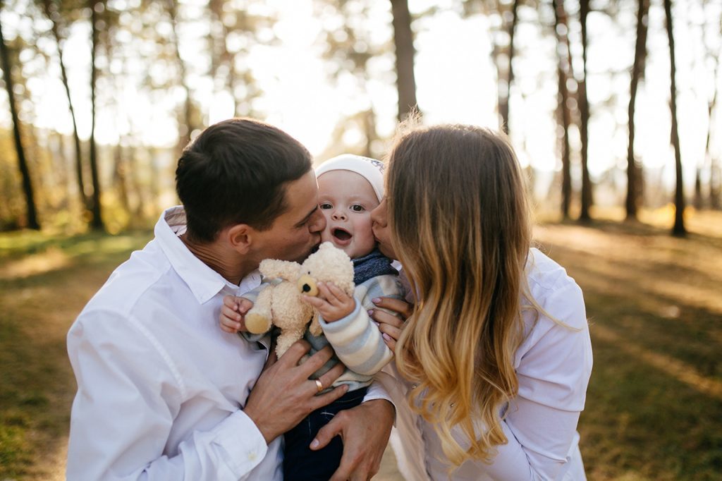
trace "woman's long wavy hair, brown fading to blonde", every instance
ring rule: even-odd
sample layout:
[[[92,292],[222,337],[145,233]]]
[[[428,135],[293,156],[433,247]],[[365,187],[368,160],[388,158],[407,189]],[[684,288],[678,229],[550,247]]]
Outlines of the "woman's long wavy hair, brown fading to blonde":
[[[399,372],[416,384],[412,409],[432,423],[454,466],[490,462],[507,442],[500,410],[518,391],[520,300],[531,300],[518,160],[488,129],[417,127],[391,149],[386,199],[393,248],[418,299],[396,347]]]

